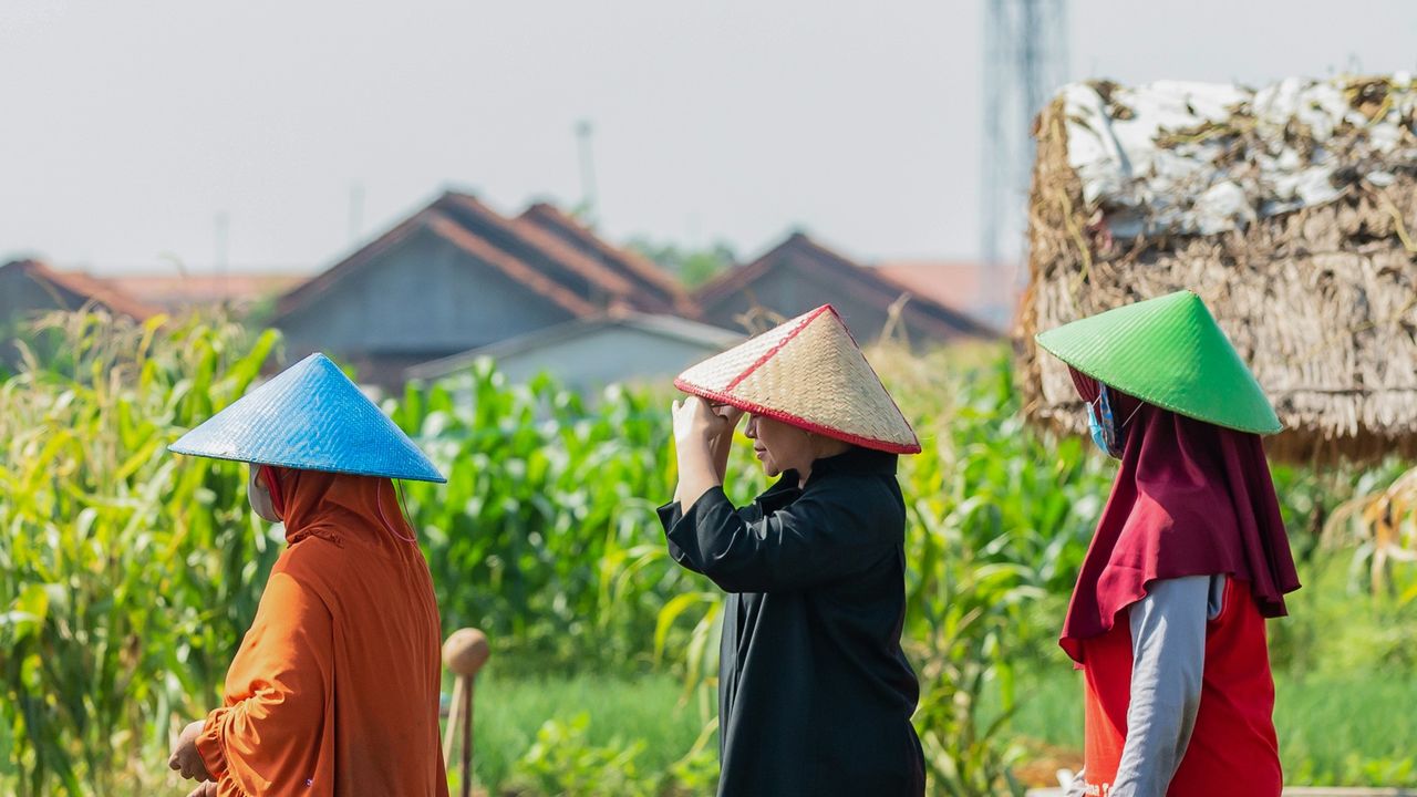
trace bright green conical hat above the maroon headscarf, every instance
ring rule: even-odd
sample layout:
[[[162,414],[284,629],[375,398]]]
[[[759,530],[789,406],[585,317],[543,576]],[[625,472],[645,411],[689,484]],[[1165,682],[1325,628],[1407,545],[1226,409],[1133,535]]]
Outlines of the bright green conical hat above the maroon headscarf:
[[[1178,291],[1040,332],[1039,346],[1144,401],[1216,425],[1284,428],[1200,296]]]

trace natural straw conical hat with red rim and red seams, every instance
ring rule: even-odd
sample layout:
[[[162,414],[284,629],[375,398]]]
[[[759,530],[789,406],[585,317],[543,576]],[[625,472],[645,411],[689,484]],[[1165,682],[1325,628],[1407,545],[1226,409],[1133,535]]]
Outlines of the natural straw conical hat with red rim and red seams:
[[[915,431],[832,305],[708,357],[674,387],[864,448],[920,452]]]

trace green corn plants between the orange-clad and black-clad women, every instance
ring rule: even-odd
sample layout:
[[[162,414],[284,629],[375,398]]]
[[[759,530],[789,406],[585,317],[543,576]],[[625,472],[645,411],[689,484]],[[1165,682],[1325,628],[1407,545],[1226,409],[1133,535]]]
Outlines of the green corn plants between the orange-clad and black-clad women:
[[[486,362],[388,408],[449,478],[405,486],[444,624],[482,628],[530,672],[648,668],[656,614],[690,589],[655,516],[666,410],[618,389],[592,410]]]

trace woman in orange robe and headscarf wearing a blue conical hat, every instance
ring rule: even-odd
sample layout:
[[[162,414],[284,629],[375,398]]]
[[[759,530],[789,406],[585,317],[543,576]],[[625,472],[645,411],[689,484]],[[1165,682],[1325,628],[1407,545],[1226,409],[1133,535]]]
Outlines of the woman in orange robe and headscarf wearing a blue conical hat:
[[[288,547],[222,705],[169,766],[196,796],[446,796],[438,606],[393,484],[438,469],[323,355],[170,448],[248,462],[251,506]]]

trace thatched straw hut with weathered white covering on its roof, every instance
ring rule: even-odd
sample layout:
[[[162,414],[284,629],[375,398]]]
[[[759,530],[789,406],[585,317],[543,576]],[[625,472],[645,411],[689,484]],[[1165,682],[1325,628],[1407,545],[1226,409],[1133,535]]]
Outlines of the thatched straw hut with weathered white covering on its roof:
[[[1410,75],[1066,87],[1036,129],[1029,417],[1085,431],[1036,332],[1190,288],[1287,427],[1271,454],[1417,455],[1414,116]]]

